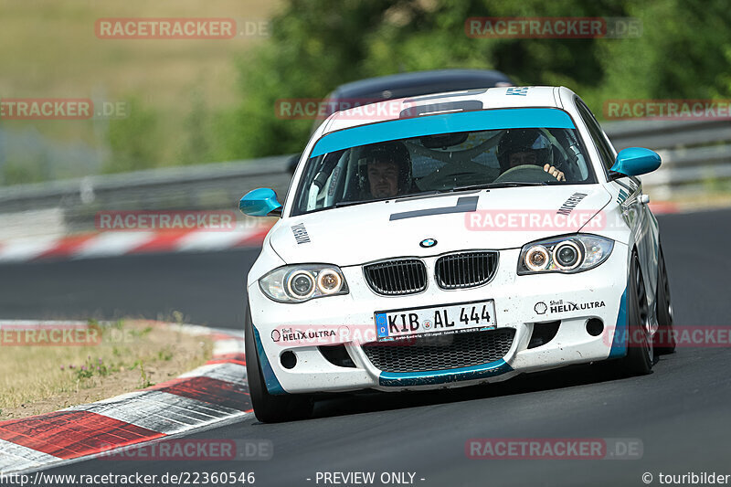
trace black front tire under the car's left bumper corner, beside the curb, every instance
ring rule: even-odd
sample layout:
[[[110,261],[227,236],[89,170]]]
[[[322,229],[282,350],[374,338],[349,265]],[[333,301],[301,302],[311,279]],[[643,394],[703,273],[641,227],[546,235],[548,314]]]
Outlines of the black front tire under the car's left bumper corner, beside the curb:
[[[251,321],[249,309],[247,309],[246,323],[244,323],[244,346],[246,375],[254,416],[262,423],[310,418],[313,413],[312,397],[291,394],[272,396],[267,390],[264,376],[261,373],[257,347],[254,343],[254,324]]]

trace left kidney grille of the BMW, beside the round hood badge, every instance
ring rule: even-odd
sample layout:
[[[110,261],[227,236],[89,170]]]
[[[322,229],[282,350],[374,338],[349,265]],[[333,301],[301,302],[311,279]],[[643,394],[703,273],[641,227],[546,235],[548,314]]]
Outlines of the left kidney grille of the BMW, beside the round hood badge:
[[[413,294],[427,289],[427,270],[419,259],[398,259],[363,268],[365,281],[378,294]]]

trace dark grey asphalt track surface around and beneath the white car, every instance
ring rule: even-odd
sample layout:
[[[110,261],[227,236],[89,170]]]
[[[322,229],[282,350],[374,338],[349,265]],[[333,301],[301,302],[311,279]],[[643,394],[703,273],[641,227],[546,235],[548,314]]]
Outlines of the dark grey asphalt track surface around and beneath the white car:
[[[731,211],[659,217],[676,326],[729,326]],[[243,276],[256,251],[0,266],[0,315],[9,318],[146,315],[180,310],[239,328]],[[731,350],[681,348],[650,376],[602,365],[519,376],[429,394],[340,397],[315,418],[254,418],[193,435],[270,439],[270,461],[85,461],[49,473],[254,471],[256,485],[318,485],[317,471],[410,471],[416,485],[645,485],[644,472],[731,474]],[[628,438],[641,460],[469,460],[472,438]],[[306,479],[312,479],[307,481]],[[420,481],[418,479],[425,479]],[[322,482],[319,485],[323,485]]]

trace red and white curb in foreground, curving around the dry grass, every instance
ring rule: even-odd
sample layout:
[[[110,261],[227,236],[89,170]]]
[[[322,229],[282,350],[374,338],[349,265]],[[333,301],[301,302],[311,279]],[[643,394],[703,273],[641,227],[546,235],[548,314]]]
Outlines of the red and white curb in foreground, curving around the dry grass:
[[[252,409],[243,337],[203,326],[165,325],[211,337],[213,358],[183,376],[141,391],[0,421],[0,474],[44,470],[248,417]]]

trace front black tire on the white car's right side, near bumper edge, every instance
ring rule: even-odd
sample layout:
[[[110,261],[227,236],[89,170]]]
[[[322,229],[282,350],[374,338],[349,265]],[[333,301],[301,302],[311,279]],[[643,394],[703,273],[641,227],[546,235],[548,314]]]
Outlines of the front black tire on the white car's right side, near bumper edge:
[[[627,290],[627,355],[621,359],[622,371],[629,376],[650,374],[654,362],[652,340],[648,329],[650,307],[640,269],[640,259],[632,252],[630,280]]]

